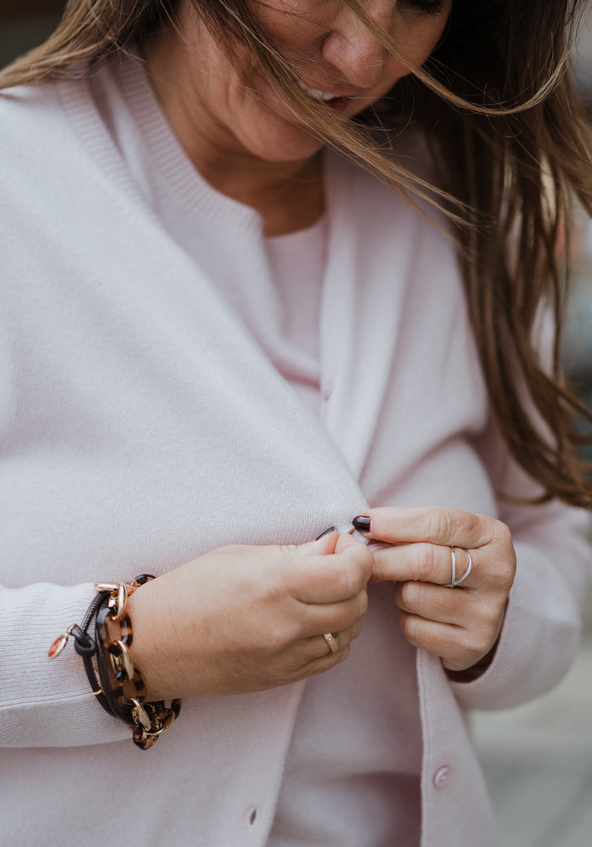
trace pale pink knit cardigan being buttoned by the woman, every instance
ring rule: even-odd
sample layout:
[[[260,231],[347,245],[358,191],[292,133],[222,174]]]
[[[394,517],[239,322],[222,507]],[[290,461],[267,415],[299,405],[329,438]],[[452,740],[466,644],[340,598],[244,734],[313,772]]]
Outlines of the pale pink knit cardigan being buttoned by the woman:
[[[145,97],[138,80],[130,97]],[[535,487],[491,418],[452,246],[327,154],[313,412],[212,279],[215,257],[195,261],[133,163],[160,150],[188,226],[212,245],[225,234],[244,284],[272,281],[260,219],[195,191],[160,122],[146,121],[136,159],[123,155],[97,85],[0,96],[3,839],[267,844],[304,684],[187,700],[142,754],[74,650],[50,664],[49,644],[97,579],[158,575],[228,543],[304,542],[368,506],[440,503],[508,523],[518,573],[482,677],[451,684],[417,653],[421,845],[495,844],[465,711],[513,706],[566,672],[589,553],[577,510],[496,497]],[[116,117],[126,107],[112,94]]]

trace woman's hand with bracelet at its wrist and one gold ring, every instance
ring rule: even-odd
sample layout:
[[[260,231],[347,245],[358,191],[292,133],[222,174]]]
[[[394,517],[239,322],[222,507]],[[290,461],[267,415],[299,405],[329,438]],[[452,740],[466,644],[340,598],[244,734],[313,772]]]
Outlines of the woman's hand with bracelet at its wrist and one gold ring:
[[[374,566],[337,532],[304,545],[227,546],[129,597],[134,664],[149,700],[262,691],[343,662]],[[338,633],[337,652],[323,638]]]

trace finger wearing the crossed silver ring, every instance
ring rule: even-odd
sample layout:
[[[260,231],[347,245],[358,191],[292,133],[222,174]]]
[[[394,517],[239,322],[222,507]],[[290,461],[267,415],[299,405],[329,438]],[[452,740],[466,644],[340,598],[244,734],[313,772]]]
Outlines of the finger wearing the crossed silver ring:
[[[484,554],[481,554],[483,556]],[[486,570],[473,567],[479,553],[470,554],[472,566],[466,579],[458,588],[471,588],[475,584],[486,584]],[[454,547],[454,562],[456,579],[462,579],[469,570],[469,554],[462,547]],[[386,579],[395,581],[435,583],[449,585],[452,582],[452,550],[450,547],[426,544],[402,544],[396,547],[386,547],[374,554],[374,571],[372,582],[384,582]]]

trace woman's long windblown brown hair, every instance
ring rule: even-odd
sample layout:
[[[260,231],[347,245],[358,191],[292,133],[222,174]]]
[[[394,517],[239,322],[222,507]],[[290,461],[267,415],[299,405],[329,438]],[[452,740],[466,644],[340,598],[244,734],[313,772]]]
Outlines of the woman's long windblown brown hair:
[[[238,39],[304,113],[310,131],[413,202],[426,197],[452,220],[469,313],[502,435],[546,496],[590,507],[574,412],[592,412],[565,385],[559,343],[573,200],[592,214],[587,115],[568,60],[585,0],[454,0],[447,30],[423,68],[397,50],[357,0],[343,0],[411,71],[354,122],[326,116],[294,83],[247,0],[192,0],[211,30]],[[0,87],[68,73],[81,60],[125,51],[174,24],[176,0],[69,0],[41,47],[0,74]],[[433,184],[410,173],[368,129],[408,121],[430,145]],[[563,246],[560,246],[560,245]],[[534,326],[550,307],[552,363],[541,363]],[[512,492],[505,492],[511,495]]]

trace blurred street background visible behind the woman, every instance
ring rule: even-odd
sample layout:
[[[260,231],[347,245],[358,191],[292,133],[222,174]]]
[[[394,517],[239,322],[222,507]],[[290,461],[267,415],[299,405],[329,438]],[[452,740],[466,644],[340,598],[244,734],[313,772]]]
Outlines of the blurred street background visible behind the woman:
[[[0,0],[0,66],[44,41],[58,24],[62,8],[63,0]],[[582,96],[592,106],[591,24],[592,16],[582,28],[575,74]],[[592,406],[592,227],[584,219],[573,259],[576,273],[564,361],[574,385]],[[471,725],[501,847],[590,847],[592,595],[584,608],[582,647],[562,684],[527,706],[475,713]]]

